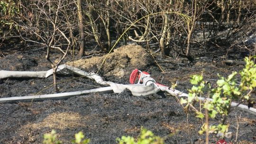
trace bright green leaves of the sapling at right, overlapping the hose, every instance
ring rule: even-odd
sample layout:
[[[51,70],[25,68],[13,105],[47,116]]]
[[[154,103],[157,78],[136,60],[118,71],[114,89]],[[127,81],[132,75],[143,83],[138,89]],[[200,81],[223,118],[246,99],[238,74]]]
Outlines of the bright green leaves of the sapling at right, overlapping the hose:
[[[241,79],[240,85],[238,85],[237,75],[238,72],[232,72],[227,78],[220,75],[217,81],[217,87],[214,89],[205,87],[205,82],[202,76],[193,75],[190,82],[193,84],[189,90],[188,99],[180,99],[181,104],[186,104],[184,108],[188,108],[194,105],[194,101],[198,101],[198,97],[204,93],[209,94],[212,101],[205,101],[200,103],[202,108],[207,109],[209,118],[215,118],[216,115],[221,117],[219,125],[210,125],[207,129],[207,125],[203,124],[199,134],[203,134],[206,130],[209,133],[215,133],[219,135],[225,135],[228,132],[229,125],[225,124],[226,117],[228,117],[231,107],[231,102],[236,99],[240,102],[248,101],[251,96],[251,92],[256,88],[256,64],[250,60],[251,58],[245,58],[245,68],[239,72]],[[201,111],[196,111],[196,117],[203,119],[205,114]]]

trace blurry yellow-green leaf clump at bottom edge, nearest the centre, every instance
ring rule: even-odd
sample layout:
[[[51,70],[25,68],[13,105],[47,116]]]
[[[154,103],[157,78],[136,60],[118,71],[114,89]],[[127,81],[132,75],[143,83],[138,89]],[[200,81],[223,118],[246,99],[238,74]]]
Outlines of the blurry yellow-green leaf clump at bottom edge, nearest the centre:
[[[164,144],[164,139],[155,136],[150,130],[142,129],[139,137],[136,139],[131,136],[122,136],[116,139],[119,144]]]

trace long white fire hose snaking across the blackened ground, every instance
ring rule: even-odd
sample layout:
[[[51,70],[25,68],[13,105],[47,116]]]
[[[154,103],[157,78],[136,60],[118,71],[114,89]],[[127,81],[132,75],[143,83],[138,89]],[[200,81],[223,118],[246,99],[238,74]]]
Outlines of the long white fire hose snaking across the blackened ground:
[[[85,95],[88,93],[94,92],[114,92],[120,93],[125,89],[131,91],[133,96],[147,96],[158,92],[159,90],[168,92],[170,95],[175,97],[188,97],[188,94],[183,93],[179,90],[174,90],[169,87],[163,86],[161,84],[156,84],[153,78],[147,78],[143,81],[143,84],[118,84],[111,81],[103,81],[100,75],[95,74],[93,72],[84,72],[78,68],[72,67],[70,65],[60,65],[57,69],[57,72],[67,69],[74,74],[85,76],[89,79],[94,79],[97,83],[106,85],[108,87],[99,88],[99,89],[92,89],[92,90],[83,90],[83,91],[74,91],[74,92],[65,92],[65,93],[56,93],[56,94],[49,94],[49,95],[35,95],[35,96],[24,96],[24,97],[11,97],[11,98],[1,98],[0,103],[15,103],[15,102],[25,102],[25,101],[42,101],[46,99],[68,99],[73,96],[78,95]],[[48,71],[41,71],[41,72],[17,72],[17,71],[0,71],[0,79],[4,78],[17,78],[17,77],[36,77],[36,78],[47,78],[53,74],[53,69]],[[110,86],[110,87],[109,87]],[[206,100],[207,98],[199,98],[200,100]],[[212,101],[212,99],[207,99]],[[232,107],[237,107],[243,111],[249,112],[251,114],[256,115],[256,108],[248,108],[245,105],[238,105],[235,102],[231,103]]]

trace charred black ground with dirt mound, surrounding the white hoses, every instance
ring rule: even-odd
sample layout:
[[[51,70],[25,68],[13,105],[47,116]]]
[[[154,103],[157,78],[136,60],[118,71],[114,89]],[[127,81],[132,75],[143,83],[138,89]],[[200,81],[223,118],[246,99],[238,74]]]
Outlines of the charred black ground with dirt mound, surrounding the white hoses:
[[[136,49],[133,49],[136,47]],[[121,50],[120,50],[121,49]],[[225,46],[210,46],[208,49],[192,48],[193,62],[186,58],[178,59],[150,54],[139,46],[123,46],[107,59],[100,74],[106,81],[128,83],[128,73],[138,68],[149,72],[159,83],[171,86],[178,85],[177,90],[187,92],[191,87],[189,76],[203,74],[204,79],[214,87],[218,80],[217,73],[222,76],[232,71],[239,71],[244,66],[229,64],[224,60],[242,61],[250,52],[245,49]],[[1,49],[0,49],[1,50]],[[16,49],[17,50],[17,49]],[[198,53],[200,52],[200,53]],[[45,60],[45,50],[22,52],[1,50],[0,70],[12,71],[46,71],[50,69]],[[137,55],[136,55],[137,54]],[[135,56],[134,56],[135,55]],[[59,54],[54,57],[58,58]],[[101,56],[92,56],[73,64],[84,71],[94,71],[102,62]],[[69,56],[64,63],[70,62]],[[145,61],[144,61],[145,60]],[[72,63],[68,63],[72,64]],[[57,81],[60,92],[89,90],[102,87],[96,82],[79,78],[72,74],[58,74]],[[0,80],[0,98],[53,93],[52,76],[44,79]],[[255,96],[254,96],[255,97]],[[218,122],[218,117],[212,123]],[[233,109],[228,120],[232,136],[227,141],[256,143],[256,116]],[[58,138],[64,144],[70,143],[74,134],[82,131],[91,144],[116,144],[116,138],[122,135],[137,137],[141,126],[153,131],[155,135],[165,137],[166,144],[203,144],[205,135],[198,135],[202,122],[187,115],[176,98],[167,94],[154,94],[146,97],[134,97],[128,91],[120,94],[99,94],[73,97],[66,100],[46,100],[42,102],[20,102],[0,104],[0,144],[40,144],[43,134],[55,129]],[[210,135],[210,142],[216,143],[219,138]]]

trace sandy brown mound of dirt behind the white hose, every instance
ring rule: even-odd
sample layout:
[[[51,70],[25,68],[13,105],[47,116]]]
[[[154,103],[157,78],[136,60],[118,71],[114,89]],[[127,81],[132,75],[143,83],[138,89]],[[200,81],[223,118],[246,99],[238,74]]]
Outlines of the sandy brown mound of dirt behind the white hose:
[[[80,59],[67,64],[74,65],[85,71],[98,71],[101,63],[107,55],[95,56],[88,59]],[[114,76],[122,78],[129,76],[134,69],[144,70],[147,66],[153,64],[152,57],[140,45],[124,45],[109,54],[106,62],[103,64],[100,74],[102,76]]]

